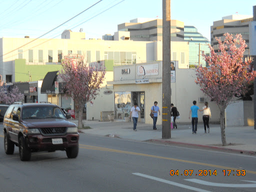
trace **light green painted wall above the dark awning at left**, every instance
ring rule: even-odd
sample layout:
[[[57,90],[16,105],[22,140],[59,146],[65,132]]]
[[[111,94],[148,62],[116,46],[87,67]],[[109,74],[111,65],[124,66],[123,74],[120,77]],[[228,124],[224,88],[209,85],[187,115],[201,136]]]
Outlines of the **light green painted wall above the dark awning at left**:
[[[29,81],[28,71],[31,74],[31,81],[43,80],[49,71],[60,70],[60,64],[26,65],[25,59],[15,59],[15,82]]]

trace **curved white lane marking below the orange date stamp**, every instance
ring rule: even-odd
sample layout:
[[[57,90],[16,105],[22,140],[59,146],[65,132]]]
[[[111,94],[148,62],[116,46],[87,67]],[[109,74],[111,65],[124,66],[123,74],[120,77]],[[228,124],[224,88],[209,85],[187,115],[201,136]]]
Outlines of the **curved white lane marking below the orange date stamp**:
[[[218,183],[218,182],[209,182],[209,181],[204,181],[204,180],[200,180],[197,178],[187,178],[184,179],[190,182],[195,182],[198,184],[204,184],[204,185],[208,185],[208,186],[221,186],[221,187],[256,187],[256,182],[255,181],[250,181],[250,180],[244,180],[247,182],[255,182],[253,184],[232,184],[232,183]]]

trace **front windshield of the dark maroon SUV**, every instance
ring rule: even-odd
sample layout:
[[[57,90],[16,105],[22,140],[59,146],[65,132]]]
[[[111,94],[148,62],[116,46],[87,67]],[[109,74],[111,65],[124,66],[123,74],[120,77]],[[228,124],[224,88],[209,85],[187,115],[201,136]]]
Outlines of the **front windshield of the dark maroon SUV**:
[[[52,106],[26,106],[21,112],[21,119],[27,118],[65,118],[58,107]]]

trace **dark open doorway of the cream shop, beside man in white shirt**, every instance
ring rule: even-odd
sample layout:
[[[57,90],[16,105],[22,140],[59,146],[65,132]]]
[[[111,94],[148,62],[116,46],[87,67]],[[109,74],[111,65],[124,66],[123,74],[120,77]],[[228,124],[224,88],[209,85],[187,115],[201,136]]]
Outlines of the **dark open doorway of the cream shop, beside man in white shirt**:
[[[144,118],[145,92],[131,92],[131,95],[132,95],[132,106],[134,102],[137,102],[138,107],[140,108],[140,114],[138,116],[138,120],[140,122],[145,122],[145,118]]]

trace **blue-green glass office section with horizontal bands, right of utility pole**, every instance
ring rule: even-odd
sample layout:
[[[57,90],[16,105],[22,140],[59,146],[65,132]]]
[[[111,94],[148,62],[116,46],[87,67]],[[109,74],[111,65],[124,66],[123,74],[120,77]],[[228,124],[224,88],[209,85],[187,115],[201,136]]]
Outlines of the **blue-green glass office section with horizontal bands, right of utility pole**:
[[[201,51],[209,55],[210,41],[197,31],[194,26],[184,26],[184,40],[189,44],[189,67],[194,65],[206,66],[206,62],[201,56]]]

